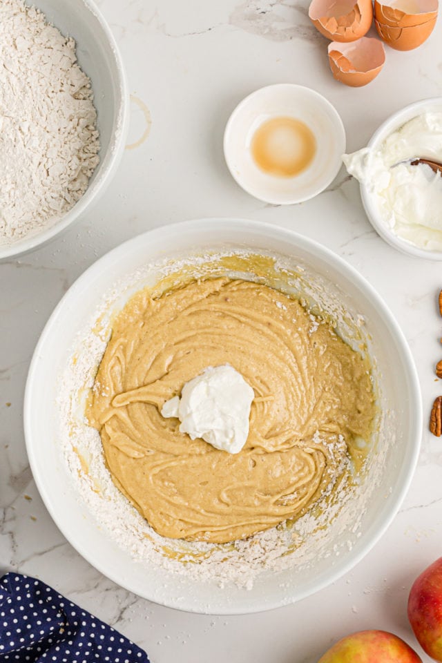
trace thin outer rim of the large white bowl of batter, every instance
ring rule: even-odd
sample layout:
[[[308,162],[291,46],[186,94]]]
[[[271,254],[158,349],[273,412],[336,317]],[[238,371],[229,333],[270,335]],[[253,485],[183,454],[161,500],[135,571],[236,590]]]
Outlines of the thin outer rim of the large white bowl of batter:
[[[260,230],[267,231],[267,233],[271,232],[273,236],[279,236],[280,239],[290,238],[291,240],[296,240],[296,244],[298,244],[300,247],[304,249],[307,249],[311,253],[316,254],[316,256],[320,256],[321,258],[331,258],[335,262],[337,269],[340,269],[341,272],[345,273],[345,276],[351,277],[353,282],[356,282],[356,284],[359,287],[362,287],[362,289],[365,290],[367,297],[371,298],[372,302],[376,302],[378,310],[381,311],[383,318],[387,321],[387,324],[390,327],[390,329],[392,329],[392,333],[396,338],[397,345],[398,347],[400,347],[401,354],[403,355],[403,358],[405,360],[404,367],[405,371],[407,372],[407,377],[410,383],[410,391],[412,392],[412,402],[414,403],[414,420],[413,420],[414,427],[412,430],[412,434],[410,436],[410,439],[413,440],[413,444],[410,444],[410,462],[407,468],[405,468],[405,471],[403,472],[402,486],[400,490],[397,492],[394,501],[390,504],[390,509],[388,510],[387,513],[385,513],[383,520],[381,521],[381,523],[377,524],[377,527],[374,533],[371,535],[371,538],[369,539],[369,541],[367,541],[365,546],[361,548],[361,550],[357,554],[352,555],[352,551],[349,551],[349,557],[347,557],[344,562],[338,561],[336,567],[330,573],[330,575],[327,578],[323,579],[321,582],[318,582],[318,584],[315,586],[314,589],[305,589],[303,591],[297,592],[295,589],[287,591],[287,588],[285,588],[284,595],[282,595],[281,593],[281,596],[278,597],[278,599],[266,601],[265,604],[263,604],[262,602],[256,602],[256,604],[253,604],[253,602],[251,602],[251,604],[247,604],[246,608],[244,608],[244,606],[239,606],[236,608],[235,606],[229,605],[228,608],[225,609],[217,608],[216,610],[211,611],[210,608],[208,608],[208,606],[206,605],[204,605],[203,610],[199,605],[195,606],[195,601],[192,599],[189,599],[187,604],[185,602],[180,602],[180,604],[177,604],[176,602],[174,602],[173,597],[169,599],[166,597],[162,597],[162,600],[159,600],[157,599],[157,597],[153,598],[151,596],[146,596],[140,593],[139,586],[137,586],[135,583],[127,581],[126,579],[117,577],[117,575],[115,575],[114,573],[109,573],[108,569],[106,568],[106,562],[102,559],[100,555],[97,555],[93,550],[87,550],[84,546],[78,543],[78,541],[75,539],[73,534],[70,532],[68,519],[65,520],[57,517],[57,514],[55,513],[55,508],[52,506],[52,498],[50,497],[50,494],[46,488],[46,481],[44,479],[44,475],[41,475],[39,473],[37,467],[38,445],[32,444],[30,412],[32,411],[32,392],[33,390],[38,389],[40,384],[38,379],[38,371],[39,371],[39,363],[41,361],[41,351],[42,349],[44,349],[44,346],[46,344],[46,339],[48,338],[48,336],[50,336],[52,332],[52,327],[57,324],[57,317],[60,311],[64,308],[64,306],[66,306],[70,297],[72,297],[73,294],[76,294],[77,291],[81,292],[84,289],[84,287],[87,287],[87,284],[90,281],[90,279],[93,278],[95,274],[100,273],[102,271],[103,265],[106,265],[107,263],[112,264],[114,262],[114,258],[117,257],[119,253],[124,253],[132,245],[137,245],[138,242],[140,242],[140,237],[149,236],[150,238],[155,237],[156,239],[158,239],[162,238],[162,236],[167,236],[170,233],[180,233],[181,235],[183,235],[184,233],[194,233],[195,230],[198,230],[199,227],[206,227],[207,224],[211,224],[213,222],[216,223],[225,222],[226,224],[231,223],[234,224],[235,227],[238,227],[238,224],[241,224],[242,229],[244,230],[250,229],[251,231],[260,231]],[[41,332],[41,336],[37,342],[34,354],[32,355],[32,360],[30,362],[28,378],[26,380],[24,404],[23,404],[23,428],[25,433],[26,451],[28,453],[28,459],[30,463],[30,468],[32,470],[32,476],[34,477],[41,499],[44,501],[44,504],[50,516],[52,517],[52,520],[55,522],[55,524],[57,525],[61,533],[64,535],[64,537],[68,540],[70,545],[73,546],[75,550],[77,550],[77,553],[79,553],[81,557],[84,557],[84,559],[86,559],[86,561],[88,561],[89,564],[91,564],[93,567],[99,570],[100,573],[102,573],[103,575],[111,579],[113,582],[115,582],[115,584],[117,584],[120,587],[124,587],[125,589],[133,592],[136,595],[141,596],[144,599],[148,599],[153,602],[156,602],[157,604],[164,605],[169,608],[175,608],[177,610],[184,612],[215,614],[215,615],[240,615],[240,614],[258,613],[267,610],[272,610],[273,608],[280,608],[282,606],[298,602],[301,599],[306,598],[307,596],[316,594],[318,591],[324,589],[333,582],[336,582],[336,580],[338,580],[340,577],[343,577],[343,575],[348,573],[349,570],[354,568],[354,566],[356,566],[356,564],[358,564],[358,562],[361,561],[361,559],[363,559],[363,557],[365,557],[365,555],[367,555],[367,553],[369,553],[370,550],[372,550],[372,548],[376,545],[379,539],[381,539],[387,528],[392,523],[394,517],[396,517],[397,512],[401,506],[401,503],[405,498],[405,494],[407,493],[407,490],[410,488],[410,483],[414,476],[414,470],[416,469],[416,463],[418,461],[419,452],[421,449],[422,426],[423,426],[423,412],[422,412],[421,389],[419,385],[419,378],[416,371],[416,366],[414,364],[414,358],[412,356],[410,347],[408,346],[407,340],[403,334],[403,331],[401,327],[399,327],[398,322],[396,321],[396,318],[394,318],[392,312],[385,304],[383,298],[381,298],[381,296],[374,289],[374,287],[372,287],[372,285],[365,279],[365,277],[363,277],[361,273],[359,273],[354,267],[352,267],[352,265],[349,265],[349,263],[347,263],[343,258],[338,256],[337,253],[334,253],[334,251],[332,251],[331,249],[328,249],[327,247],[323,246],[323,244],[316,242],[316,240],[312,240],[310,238],[300,235],[299,233],[296,233],[289,229],[285,229],[283,227],[273,226],[272,224],[269,223],[251,221],[247,219],[238,219],[238,218],[203,218],[203,219],[178,222],[174,224],[166,224],[162,227],[147,231],[146,233],[141,233],[140,235],[135,236],[134,238],[131,238],[130,240],[127,240],[122,244],[119,244],[119,246],[115,247],[115,249],[112,249],[111,251],[108,251],[108,253],[105,253],[104,256],[102,256],[102,258],[99,258],[99,260],[94,262],[93,265],[90,265],[90,267],[88,267],[88,269],[86,269],[86,271],[84,271],[84,273],[82,273],[81,276],[77,278],[77,280],[73,283],[73,285],[70,286],[66,294],[64,294],[63,298],[61,298],[61,300],[55,307],[54,311],[52,311],[52,314],[50,315],[50,318],[48,319],[48,322],[46,323],[43,331]]]

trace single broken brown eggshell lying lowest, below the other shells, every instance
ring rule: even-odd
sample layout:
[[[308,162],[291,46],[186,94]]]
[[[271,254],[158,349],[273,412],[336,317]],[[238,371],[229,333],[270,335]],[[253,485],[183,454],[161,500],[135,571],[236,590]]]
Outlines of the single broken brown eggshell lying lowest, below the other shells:
[[[363,37],[351,44],[332,41],[329,64],[337,81],[359,88],[372,81],[385,63],[385,48],[374,37]]]

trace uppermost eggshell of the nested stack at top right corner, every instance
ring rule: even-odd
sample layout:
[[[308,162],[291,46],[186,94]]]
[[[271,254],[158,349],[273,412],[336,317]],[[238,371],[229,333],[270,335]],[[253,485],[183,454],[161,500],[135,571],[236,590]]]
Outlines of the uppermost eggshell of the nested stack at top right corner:
[[[394,4],[394,7],[392,7]],[[438,0],[374,0],[374,18],[383,26],[412,28],[437,17]]]

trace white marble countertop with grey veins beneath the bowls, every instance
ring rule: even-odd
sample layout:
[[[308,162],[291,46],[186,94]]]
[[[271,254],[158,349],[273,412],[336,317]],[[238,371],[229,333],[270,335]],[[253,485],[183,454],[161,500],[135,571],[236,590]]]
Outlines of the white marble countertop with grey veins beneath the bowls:
[[[422,655],[407,623],[412,581],[441,555],[442,442],[426,430],[441,393],[436,296],[441,266],[407,258],[365,218],[358,185],[341,171],[304,204],[276,207],[241,191],[222,156],[224,124],[256,88],[311,86],[336,106],[347,148],[367,142],[390,113],[441,93],[441,21],[412,52],[387,49],[381,75],[365,88],[338,84],[325,39],[307,19],[307,0],[101,0],[122,50],[134,99],[151,131],[127,150],[104,200],[47,247],[0,265],[0,571],[37,575],[146,648],[153,663],[314,663],[333,640],[363,628],[403,637]],[[439,33],[439,34],[438,34]],[[128,142],[145,119],[133,102]],[[153,227],[236,216],[294,229],[343,256],[392,309],[410,343],[423,392],[419,466],[394,523],[351,573],[302,602],[258,615],[192,615],[151,604],[100,575],[68,544],[44,507],[26,457],[23,389],[32,351],[62,294],[108,249]]]

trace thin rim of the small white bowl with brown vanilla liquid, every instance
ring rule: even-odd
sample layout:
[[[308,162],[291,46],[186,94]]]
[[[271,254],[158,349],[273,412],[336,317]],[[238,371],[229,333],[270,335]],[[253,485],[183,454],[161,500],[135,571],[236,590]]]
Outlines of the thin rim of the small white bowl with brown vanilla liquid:
[[[325,180],[325,185],[318,187],[318,189],[315,190],[314,193],[310,193],[307,196],[301,196],[300,198],[293,198],[291,200],[280,200],[280,198],[278,198],[278,197],[273,198],[271,196],[262,196],[262,195],[259,195],[258,193],[256,193],[255,191],[251,191],[251,189],[249,189],[249,187],[244,184],[244,182],[242,180],[242,177],[238,176],[238,173],[236,173],[235,169],[233,168],[233,164],[231,162],[231,151],[230,151],[230,147],[229,147],[230,133],[231,133],[232,126],[236,122],[236,118],[238,117],[239,113],[241,113],[244,106],[247,106],[247,104],[250,102],[251,99],[253,99],[253,97],[262,94],[262,92],[264,90],[271,90],[271,89],[275,90],[276,88],[280,88],[280,89],[281,88],[286,88],[286,89],[291,88],[292,90],[294,90],[294,89],[307,90],[311,94],[312,97],[316,97],[317,99],[319,99],[320,102],[323,104],[323,106],[325,106],[325,108],[327,108],[327,111],[329,112],[329,115],[332,115],[334,117],[334,119],[336,120],[338,126],[340,127],[340,131],[342,132],[341,137],[342,137],[342,140],[343,140],[342,141],[343,146],[342,146],[342,150],[340,151],[339,154],[336,151],[336,154],[338,155],[337,159],[336,159],[336,171],[331,170],[330,173],[332,173],[332,174],[329,177],[327,177],[327,179]],[[338,175],[338,173],[339,173],[339,171],[342,167],[341,155],[343,155],[343,153],[345,153],[346,140],[347,140],[347,138],[346,138],[346,135],[345,135],[345,127],[344,127],[343,121],[342,121],[338,111],[336,111],[336,108],[334,107],[332,102],[329,102],[329,100],[326,97],[321,95],[317,90],[314,90],[313,88],[309,88],[307,85],[298,85],[297,83],[275,83],[275,84],[272,84],[272,85],[266,85],[262,88],[258,88],[258,90],[254,90],[249,95],[247,95],[247,97],[244,97],[244,99],[242,99],[235,108],[233,108],[233,111],[231,112],[231,114],[229,116],[229,119],[227,120],[226,128],[224,129],[224,137],[223,137],[223,141],[222,141],[222,147],[223,147],[223,151],[224,151],[224,160],[227,164],[227,168],[229,169],[229,173],[233,177],[233,180],[235,180],[235,182],[238,184],[238,186],[241,187],[241,189],[243,191],[245,191],[246,193],[249,193],[249,195],[253,195],[253,198],[256,198],[257,200],[262,200],[262,202],[268,202],[272,205],[295,205],[295,204],[298,204],[300,202],[306,202],[307,200],[311,200],[311,198],[315,198],[316,195],[318,195],[319,193],[322,193],[323,191],[325,191],[325,189],[327,189],[327,186],[332,184],[334,178],[336,177],[336,175]]]

